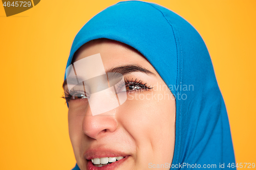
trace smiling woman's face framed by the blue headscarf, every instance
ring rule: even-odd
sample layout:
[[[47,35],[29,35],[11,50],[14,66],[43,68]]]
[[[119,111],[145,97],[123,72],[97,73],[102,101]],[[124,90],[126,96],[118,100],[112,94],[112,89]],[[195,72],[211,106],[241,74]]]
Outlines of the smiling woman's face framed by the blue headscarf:
[[[168,169],[175,144],[173,94],[140,53],[116,41],[89,42],[79,48],[74,62],[98,53],[105,70],[117,67],[122,72],[127,100],[111,111],[94,116],[88,99],[76,97],[68,101],[69,134],[78,166],[95,170],[141,170],[164,164]],[[67,84],[64,88],[68,90]],[[106,157],[111,157],[109,162],[115,160],[113,157],[120,160],[102,167],[91,160],[105,164]]]

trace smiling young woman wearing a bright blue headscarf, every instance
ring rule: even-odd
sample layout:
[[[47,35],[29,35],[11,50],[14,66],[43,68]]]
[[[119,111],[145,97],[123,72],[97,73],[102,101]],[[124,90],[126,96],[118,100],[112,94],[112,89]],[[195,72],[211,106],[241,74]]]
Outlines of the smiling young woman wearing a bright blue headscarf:
[[[82,88],[69,81],[70,70]],[[102,90],[95,72],[121,74],[125,100],[117,87],[102,92],[113,87],[110,76]],[[87,78],[79,80],[81,74]],[[168,9],[130,1],[94,16],[74,39],[65,80],[74,169],[229,168],[235,163],[207,48],[188,22]]]

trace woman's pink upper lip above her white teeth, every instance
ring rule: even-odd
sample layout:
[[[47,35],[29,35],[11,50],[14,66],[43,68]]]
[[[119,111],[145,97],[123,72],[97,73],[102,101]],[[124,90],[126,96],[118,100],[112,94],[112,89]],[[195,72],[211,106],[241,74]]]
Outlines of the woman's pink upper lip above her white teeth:
[[[120,151],[110,150],[110,149],[90,149],[84,152],[83,154],[84,159],[87,159],[87,160],[91,160],[94,158],[117,157],[117,156],[127,157],[129,155]]]

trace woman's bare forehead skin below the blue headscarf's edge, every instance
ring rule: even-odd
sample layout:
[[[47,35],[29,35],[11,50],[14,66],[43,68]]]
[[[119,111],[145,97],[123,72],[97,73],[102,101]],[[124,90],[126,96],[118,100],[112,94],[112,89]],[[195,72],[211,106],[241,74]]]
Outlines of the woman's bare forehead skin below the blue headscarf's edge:
[[[98,53],[100,53],[105,69],[124,64],[139,64],[154,70],[147,59],[133,47],[109,39],[93,40],[82,45],[75,53],[73,62]]]

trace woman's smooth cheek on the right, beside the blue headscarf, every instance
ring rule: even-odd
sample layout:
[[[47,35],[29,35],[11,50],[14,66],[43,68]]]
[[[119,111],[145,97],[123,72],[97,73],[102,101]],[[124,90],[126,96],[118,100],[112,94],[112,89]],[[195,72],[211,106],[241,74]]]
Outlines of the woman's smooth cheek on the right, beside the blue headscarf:
[[[160,93],[154,92],[156,96]],[[134,95],[133,100],[120,106],[119,122],[135,140],[137,156],[143,159],[141,162],[171,163],[175,142],[175,100],[159,100],[150,95],[149,100],[140,99],[137,96],[136,100]]]

